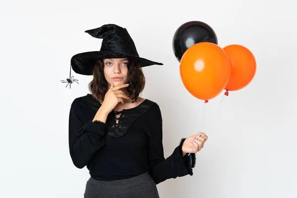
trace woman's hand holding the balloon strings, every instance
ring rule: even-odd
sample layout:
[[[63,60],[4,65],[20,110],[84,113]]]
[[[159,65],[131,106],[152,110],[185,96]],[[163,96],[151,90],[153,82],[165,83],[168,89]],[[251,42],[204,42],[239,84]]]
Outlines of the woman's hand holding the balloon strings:
[[[196,135],[188,137],[182,146],[183,156],[185,156],[187,153],[196,153],[199,150],[201,150],[201,148],[203,148],[204,143],[207,139],[208,137],[204,133],[200,133],[200,132]],[[194,141],[196,142],[194,143]],[[195,144],[194,149],[193,149],[193,143]]]

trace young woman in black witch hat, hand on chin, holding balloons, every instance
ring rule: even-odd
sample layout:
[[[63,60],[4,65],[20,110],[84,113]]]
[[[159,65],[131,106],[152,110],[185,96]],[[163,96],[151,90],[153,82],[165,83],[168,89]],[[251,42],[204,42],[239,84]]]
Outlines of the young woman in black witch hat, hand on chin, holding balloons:
[[[86,32],[103,41],[100,51],[71,58],[76,73],[93,75],[92,94],[74,99],[69,114],[70,156],[91,175],[84,198],[159,198],[156,184],[193,175],[207,136],[181,139],[165,159],[160,108],[139,97],[142,67],[162,63],[139,57],[125,28],[107,24]]]

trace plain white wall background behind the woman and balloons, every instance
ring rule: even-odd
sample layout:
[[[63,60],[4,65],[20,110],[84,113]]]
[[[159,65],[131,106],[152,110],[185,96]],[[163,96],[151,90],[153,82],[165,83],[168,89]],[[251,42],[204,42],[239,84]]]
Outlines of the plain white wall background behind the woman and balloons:
[[[194,175],[159,184],[160,197],[296,198],[296,9],[295,0],[1,1],[0,197],[83,197],[89,172],[72,164],[68,115],[92,77],[72,71],[71,90],[60,80],[74,54],[100,49],[85,30],[125,27],[142,57],[164,63],[144,68],[142,97],[161,107],[165,157],[201,130],[203,101],[186,91],[172,50],[176,29],[198,20],[220,47],[250,49],[257,71],[217,111],[223,93],[207,103]]]

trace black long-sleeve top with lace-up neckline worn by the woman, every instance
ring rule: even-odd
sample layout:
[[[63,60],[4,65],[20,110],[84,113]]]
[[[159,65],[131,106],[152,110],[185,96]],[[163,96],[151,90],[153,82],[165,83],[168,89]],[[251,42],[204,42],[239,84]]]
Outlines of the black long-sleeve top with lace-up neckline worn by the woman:
[[[162,116],[157,103],[144,100],[138,106],[115,112],[106,123],[92,122],[100,103],[91,94],[73,100],[69,113],[69,150],[74,165],[87,166],[92,178],[118,180],[149,172],[155,183],[193,175],[195,154],[182,155],[183,138],[164,158]]]

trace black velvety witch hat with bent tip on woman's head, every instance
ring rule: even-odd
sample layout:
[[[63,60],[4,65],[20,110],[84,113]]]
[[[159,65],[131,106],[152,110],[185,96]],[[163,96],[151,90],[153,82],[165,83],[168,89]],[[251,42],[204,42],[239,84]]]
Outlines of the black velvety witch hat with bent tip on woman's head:
[[[106,24],[85,32],[103,40],[100,51],[78,53],[71,58],[72,69],[78,74],[92,75],[96,61],[103,58],[131,58],[140,63],[142,67],[163,65],[140,57],[128,31],[118,25]]]

